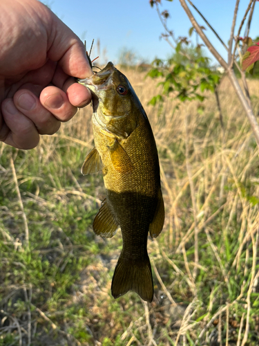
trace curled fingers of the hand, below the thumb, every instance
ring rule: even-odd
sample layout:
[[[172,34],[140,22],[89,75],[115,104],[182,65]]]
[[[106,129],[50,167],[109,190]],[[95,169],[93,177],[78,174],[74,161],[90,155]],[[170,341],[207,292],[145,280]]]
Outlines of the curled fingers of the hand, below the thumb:
[[[26,89],[17,91],[13,99],[2,102],[0,118],[0,140],[19,149],[36,147],[39,134],[55,134],[60,122],[70,120],[77,107],[90,102],[90,92],[74,78],[64,84],[67,93],[57,86],[43,90],[39,85],[23,87]]]

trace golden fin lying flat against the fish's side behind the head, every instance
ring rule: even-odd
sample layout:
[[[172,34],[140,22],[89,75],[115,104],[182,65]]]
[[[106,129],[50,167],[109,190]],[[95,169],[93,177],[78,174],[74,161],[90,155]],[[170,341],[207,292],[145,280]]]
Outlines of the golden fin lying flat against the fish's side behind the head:
[[[128,154],[119,144],[117,140],[113,143],[112,146],[108,147],[111,161],[113,163],[113,167],[115,170],[121,173],[131,172],[133,170],[133,164],[131,163],[131,158],[129,158]]]

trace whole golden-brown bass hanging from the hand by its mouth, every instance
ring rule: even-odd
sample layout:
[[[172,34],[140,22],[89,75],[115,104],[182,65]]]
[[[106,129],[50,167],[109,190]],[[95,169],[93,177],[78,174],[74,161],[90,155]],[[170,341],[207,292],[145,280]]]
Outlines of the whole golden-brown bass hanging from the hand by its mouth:
[[[135,291],[146,302],[152,302],[148,233],[155,238],[164,225],[160,164],[153,131],[133,87],[112,62],[79,82],[92,93],[95,142],[81,173],[102,170],[106,189],[93,230],[105,238],[113,237],[119,228],[122,231],[122,253],[113,274],[111,293],[118,298]]]

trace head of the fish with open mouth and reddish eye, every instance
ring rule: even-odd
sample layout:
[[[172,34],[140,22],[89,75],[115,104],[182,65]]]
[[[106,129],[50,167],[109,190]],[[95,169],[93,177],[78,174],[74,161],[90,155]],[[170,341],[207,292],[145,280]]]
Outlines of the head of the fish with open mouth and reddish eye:
[[[125,75],[112,62],[90,78],[79,80],[93,95],[97,123],[119,138],[127,138],[137,127],[140,101]]]

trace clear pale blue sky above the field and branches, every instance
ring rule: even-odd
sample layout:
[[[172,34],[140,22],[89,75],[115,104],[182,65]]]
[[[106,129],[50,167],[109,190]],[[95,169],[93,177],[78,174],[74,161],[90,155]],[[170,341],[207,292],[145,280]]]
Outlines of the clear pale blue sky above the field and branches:
[[[164,29],[155,7],[151,8],[148,0],[47,0],[44,2],[82,40],[86,39],[88,46],[92,39],[95,41],[99,39],[101,62],[110,60],[116,64],[123,47],[149,62],[155,57],[165,59],[172,52],[169,44],[160,39]],[[193,0],[193,3],[227,44],[236,0]],[[240,0],[236,31],[248,3],[249,0]],[[168,26],[175,36],[188,35],[191,23],[180,2],[162,0],[161,8],[169,10],[171,17]],[[192,8],[191,11],[195,14]],[[195,17],[200,25],[206,26],[198,15],[195,14]],[[251,24],[249,36],[252,38],[259,35],[258,19],[259,2],[256,3]],[[218,39],[210,33],[209,29],[205,33],[227,59],[227,54]],[[241,34],[243,35],[244,31]],[[92,58],[96,53],[95,46]],[[211,55],[208,53],[208,56]]]

